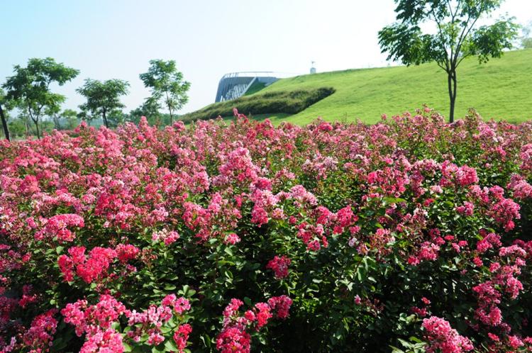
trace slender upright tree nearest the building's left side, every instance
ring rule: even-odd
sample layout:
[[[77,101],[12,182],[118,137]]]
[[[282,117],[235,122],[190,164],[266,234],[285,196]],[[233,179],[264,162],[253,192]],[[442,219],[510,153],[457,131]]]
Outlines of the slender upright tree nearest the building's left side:
[[[170,124],[172,124],[174,111],[179,111],[187,101],[187,91],[190,89],[190,82],[183,81],[183,74],[177,71],[175,61],[150,60],[150,69],[144,74],[140,74],[140,79],[144,86],[151,89],[152,100],[159,106],[162,100],[170,113]],[[147,101],[148,101],[147,100]]]

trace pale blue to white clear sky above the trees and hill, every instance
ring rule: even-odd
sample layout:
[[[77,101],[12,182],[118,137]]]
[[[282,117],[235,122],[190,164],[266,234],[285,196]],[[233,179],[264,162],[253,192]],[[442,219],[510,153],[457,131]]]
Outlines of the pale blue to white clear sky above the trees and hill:
[[[13,65],[54,57],[79,69],[57,91],[83,102],[83,80],[125,79],[126,111],[149,95],[138,74],[151,59],[175,60],[192,83],[181,113],[214,101],[227,72],[318,72],[385,66],[377,32],[395,19],[393,0],[0,0],[0,82]],[[532,20],[532,0],[499,13]]]

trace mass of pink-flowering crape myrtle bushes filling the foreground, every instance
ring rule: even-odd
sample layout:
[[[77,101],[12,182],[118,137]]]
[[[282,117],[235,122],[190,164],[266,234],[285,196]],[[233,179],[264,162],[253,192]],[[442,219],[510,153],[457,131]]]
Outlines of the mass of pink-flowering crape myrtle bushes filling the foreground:
[[[526,352],[532,123],[0,142],[1,352]]]

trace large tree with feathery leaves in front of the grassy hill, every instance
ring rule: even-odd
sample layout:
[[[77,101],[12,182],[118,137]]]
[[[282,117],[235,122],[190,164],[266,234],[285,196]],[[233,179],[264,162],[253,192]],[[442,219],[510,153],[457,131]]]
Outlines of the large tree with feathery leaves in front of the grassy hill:
[[[435,61],[447,73],[450,99],[449,121],[454,121],[457,91],[456,69],[471,55],[480,63],[501,57],[512,47],[519,26],[513,18],[499,19],[490,26],[477,21],[497,9],[501,0],[395,0],[397,21],[379,31],[382,52],[388,60],[405,65]],[[422,23],[432,23],[434,34],[423,33]]]

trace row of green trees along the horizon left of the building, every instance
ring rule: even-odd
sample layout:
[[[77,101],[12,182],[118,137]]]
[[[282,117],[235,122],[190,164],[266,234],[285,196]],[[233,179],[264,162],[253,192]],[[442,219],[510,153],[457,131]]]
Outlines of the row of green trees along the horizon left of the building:
[[[8,140],[30,135],[40,138],[43,132],[72,130],[80,121],[113,128],[128,121],[138,123],[141,116],[151,125],[170,125],[188,101],[190,83],[177,71],[174,60],[150,60],[148,72],[140,74],[140,79],[151,96],[138,108],[123,111],[121,97],[129,93],[129,82],[86,79],[76,89],[86,99],[79,111],[62,109],[66,97],[52,91],[52,86],[62,86],[78,74],[79,70],[51,57],[32,58],[26,67],[15,65],[13,75],[0,84],[0,135]]]

